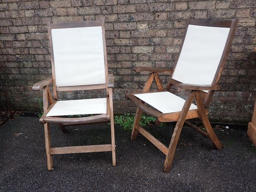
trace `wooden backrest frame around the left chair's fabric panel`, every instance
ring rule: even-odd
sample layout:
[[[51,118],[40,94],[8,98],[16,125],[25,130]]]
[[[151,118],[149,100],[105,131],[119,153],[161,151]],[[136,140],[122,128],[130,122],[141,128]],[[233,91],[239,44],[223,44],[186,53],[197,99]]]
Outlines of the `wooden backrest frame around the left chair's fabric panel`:
[[[102,27],[102,42],[103,42],[103,53],[104,53],[104,64],[105,64],[105,83],[104,84],[88,84],[88,85],[75,85],[75,86],[56,86],[55,79],[55,62],[54,62],[54,52],[52,44],[52,29],[67,29],[67,28],[79,28],[79,27]],[[58,91],[75,91],[75,90],[93,90],[93,89],[106,89],[108,93],[108,88],[106,86],[108,80],[108,61],[107,61],[107,49],[105,41],[105,25],[104,20],[98,21],[78,21],[70,23],[50,23],[48,22],[48,33],[49,33],[49,44],[51,52],[51,63],[52,63],[52,86],[53,86],[53,96],[57,100]]]

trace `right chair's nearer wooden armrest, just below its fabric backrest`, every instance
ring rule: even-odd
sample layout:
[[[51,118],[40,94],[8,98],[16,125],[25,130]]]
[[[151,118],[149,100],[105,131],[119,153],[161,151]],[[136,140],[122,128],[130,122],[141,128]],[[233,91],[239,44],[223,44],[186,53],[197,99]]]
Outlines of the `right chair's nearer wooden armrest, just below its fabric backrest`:
[[[172,86],[177,91],[180,90],[218,90],[221,88],[220,85],[215,84],[185,84],[185,83],[178,83]]]

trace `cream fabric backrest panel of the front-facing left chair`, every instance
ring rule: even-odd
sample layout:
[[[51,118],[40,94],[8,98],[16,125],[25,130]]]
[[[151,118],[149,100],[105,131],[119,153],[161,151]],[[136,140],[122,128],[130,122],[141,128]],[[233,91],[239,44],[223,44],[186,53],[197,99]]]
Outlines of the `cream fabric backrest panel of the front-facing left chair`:
[[[101,26],[51,32],[57,87],[106,83]]]

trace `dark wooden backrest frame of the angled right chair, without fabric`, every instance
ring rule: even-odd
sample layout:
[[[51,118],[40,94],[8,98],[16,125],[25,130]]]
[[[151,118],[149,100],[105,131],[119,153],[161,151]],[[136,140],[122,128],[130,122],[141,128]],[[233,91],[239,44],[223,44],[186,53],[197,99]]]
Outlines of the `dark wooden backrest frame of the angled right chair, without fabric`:
[[[221,77],[221,73],[222,73],[222,71],[224,69],[224,65],[226,63],[227,56],[228,56],[228,54],[230,52],[230,49],[231,49],[231,46],[232,46],[232,41],[233,41],[234,35],[236,33],[237,23],[238,23],[238,19],[233,19],[233,20],[212,20],[212,19],[193,19],[193,18],[189,17],[188,20],[187,20],[187,23],[186,23],[186,28],[185,28],[183,40],[182,40],[182,43],[180,45],[180,51],[178,53],[178,57],[177,57],[177,61],[175,62],[175,66],[173,67],[173,71],[175,71],[177,63],[179,61],[180,52],[181,52],[181,50],[183,48],[183,44],[184,44],[184,41],[185,41],[185,38],[186,38],[186,33],[187,33],[189,25],[230,28],[230,31],[229,31],[228,36],[227,36],[227,41],[226,41],[226,44],[224,46],[224,50],[223,50],[223,53],[221,55],[220,62],[218,64],[218,68],[216,70],[215,76],[214,76],[213,81],[212,81],[212,85],[217,84],[219,79],[220,79],[220,77]],[[167,89],[168,90],[170,90],[172,88],[172,85],[181,83],[180,81],[172,79],[172,76],[173,76],[173,73],[170,76],[169,82],[167,84]],[[213,94],[214,94],[213,90],[204,94],[204,97],[205,97],[204,105],[205,105],[206,108],[208,108]]]

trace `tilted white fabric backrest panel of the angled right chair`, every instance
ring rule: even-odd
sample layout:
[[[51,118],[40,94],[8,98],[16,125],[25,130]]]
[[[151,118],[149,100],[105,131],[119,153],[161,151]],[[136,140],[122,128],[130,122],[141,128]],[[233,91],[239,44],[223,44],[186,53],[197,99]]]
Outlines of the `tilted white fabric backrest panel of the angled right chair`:
[[[189,25],[172,79],[212,84],[230,28]]]

